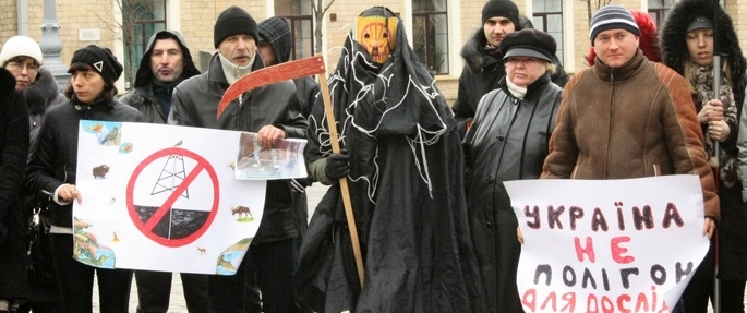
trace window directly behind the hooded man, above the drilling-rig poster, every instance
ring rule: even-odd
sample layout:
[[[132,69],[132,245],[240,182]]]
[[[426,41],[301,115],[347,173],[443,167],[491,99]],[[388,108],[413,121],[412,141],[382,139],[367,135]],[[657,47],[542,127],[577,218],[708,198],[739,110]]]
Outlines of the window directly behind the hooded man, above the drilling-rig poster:
[[[166,29],[166,0],[122,0],[124,77],[129,88],[153,34]]]

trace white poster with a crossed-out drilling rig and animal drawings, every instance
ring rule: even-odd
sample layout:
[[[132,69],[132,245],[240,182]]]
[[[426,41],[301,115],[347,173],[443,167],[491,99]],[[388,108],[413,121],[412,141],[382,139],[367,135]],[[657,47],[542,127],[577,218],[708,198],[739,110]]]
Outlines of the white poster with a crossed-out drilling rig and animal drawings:
[[[81,121],[74,255],[104,268],[232,275],[265,180],[237,180],[241,132]]]

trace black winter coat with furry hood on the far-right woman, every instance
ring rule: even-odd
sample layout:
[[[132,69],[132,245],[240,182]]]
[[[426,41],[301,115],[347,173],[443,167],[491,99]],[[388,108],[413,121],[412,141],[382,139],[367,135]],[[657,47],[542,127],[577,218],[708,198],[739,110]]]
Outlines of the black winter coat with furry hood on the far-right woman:
[[[686,43],[687,26],[695,17],[703,14],[708,19],[713,19],[711,1],[682,0],[672,7],[672,10],[666,14],[666,21],[661,32],[663,62],[683,75],[685,74],[685,62],[690,59]],[[742,53],[739,38],[732,23],[732,17],[720,5],[719,19],[712,22],[718,23],[714,26],[718,27],[719,33],[718,38],[714,39],[719,45],[718,51],[723,55],[721,62],[727,65],[730,70],[734,106],[737,109],[737,121],[727,121],[731,133],[726,141],[719,144],[722,149],[720,166],[723,168],[727,164],[723,161],[725,159],[739,158],[739,167],[742,168],[742,183],[736,183],[731,188],[724,183],[719,183],[719,197],[721,200],[719,274],[722,278],[745,280],[747,279],[747,265],[744,262],[747,257],[747,245],[745,245],[745,241],[747,241],[747,228],[745,227],[747,225],[747,210],[745,210],[745,203],[742,201],[742,193],[747,193],[747,155],[739,156],[740,149],[737,145],[747,144],[743,142],[747,137],[743,136],[739,141],[737,137],[742,129],[747,128],[747,123],[743,122],[742,125],[738,123],[739,113],[744,115],[743,104],[746,100],[747,79],[745,77],[745,70],[747,61]],[[710,85],[712,82],[706,82],[706,84]],[[702,108],[703,104],[698,103],[697,98],[695,100],[696,109]],[[701,124],[704,134],[708,133],[707,127]],[[723,180],[725,177],[721,176],[721,178]],[[700,268],[704,267],[701,266]]]

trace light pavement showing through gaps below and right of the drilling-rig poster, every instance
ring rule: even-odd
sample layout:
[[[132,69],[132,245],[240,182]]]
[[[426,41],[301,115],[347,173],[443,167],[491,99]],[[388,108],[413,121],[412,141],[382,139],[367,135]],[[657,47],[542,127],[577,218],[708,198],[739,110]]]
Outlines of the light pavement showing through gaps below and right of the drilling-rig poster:
[[[324,193],[327,191],[327,186],[321,183],[314,183],[312,186],[306,189],[306,194],[309,197],[309,218],[311,218],[316,204],[322,200]],[[95,284],[95,282],[94,282]],[[169,313],[186,313],[186,303],[184,302],[184,297],[182,296],[181,277],[179,274],[173,275],[173,280],[171,282],[171,302],[169,303]],[[98,286],[94,285],[94,312],[98,312]],[[132,281],[132,291],[130,292],[130,313],[135,313],[137,310],[137,287],[135,281]]]

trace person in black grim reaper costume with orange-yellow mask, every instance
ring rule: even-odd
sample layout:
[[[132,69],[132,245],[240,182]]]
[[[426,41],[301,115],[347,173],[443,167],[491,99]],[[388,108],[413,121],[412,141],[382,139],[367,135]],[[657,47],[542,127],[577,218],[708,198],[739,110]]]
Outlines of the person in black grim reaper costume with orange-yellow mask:
[[[401,20],[364,11],[329,79],[339,143],[321,97],[309,118],[309,173],[332,184],[301,246],[299,298],[318,312],[482,312],[451,112]],[[365,268],[358,278],[342,210],[348,179]]]

